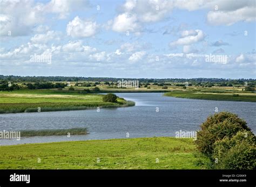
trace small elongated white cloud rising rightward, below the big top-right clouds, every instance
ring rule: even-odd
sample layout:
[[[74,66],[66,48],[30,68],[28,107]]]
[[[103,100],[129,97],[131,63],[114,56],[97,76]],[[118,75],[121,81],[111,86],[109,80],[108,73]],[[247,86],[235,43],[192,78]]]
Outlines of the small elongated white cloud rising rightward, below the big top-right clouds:
[[[201,30],[195,30],[197,35],[188,35],[184,38],[179,38],[177,41],[173,41],[170,43],[170,46],[178,46],[178,45],[191,45],[196,42],[202,41],[205,38],[205,34]]]

